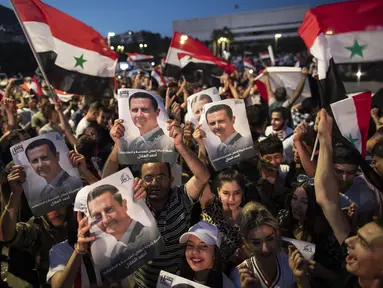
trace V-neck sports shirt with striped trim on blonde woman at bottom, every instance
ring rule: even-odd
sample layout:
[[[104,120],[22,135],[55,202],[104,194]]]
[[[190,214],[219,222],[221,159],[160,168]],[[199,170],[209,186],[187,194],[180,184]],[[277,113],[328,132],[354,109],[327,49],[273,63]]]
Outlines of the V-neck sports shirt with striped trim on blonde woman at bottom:
[[[289,257],[285,253],[279,253],[277,256],[277,277],[271,285],[267,285],[266,278],[262,273],[262,270],[259,268],[255,257],[251,257],[251,267],[254,272],[255,277],[259,279],[262,288],[290,288],[295,283],[295,278],[293,272],[289,266]],[[246,263],[245,260],[243,263]],[[246,263],[247,265],[247,263]],[[230,277],[237,288],[241,288],[241,280],[238,273],[238,268],[236,267],[231,273]]]

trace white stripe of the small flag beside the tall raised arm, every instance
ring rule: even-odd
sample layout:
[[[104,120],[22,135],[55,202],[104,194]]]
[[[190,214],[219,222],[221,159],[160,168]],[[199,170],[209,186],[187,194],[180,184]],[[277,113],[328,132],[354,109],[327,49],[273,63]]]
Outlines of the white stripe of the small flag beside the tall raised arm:
[[[355,140],[355,147],[362,153],[362,135],[359,130],[354,99],[347,98],[332,103],[330,106],[340,133],[349,141]]]

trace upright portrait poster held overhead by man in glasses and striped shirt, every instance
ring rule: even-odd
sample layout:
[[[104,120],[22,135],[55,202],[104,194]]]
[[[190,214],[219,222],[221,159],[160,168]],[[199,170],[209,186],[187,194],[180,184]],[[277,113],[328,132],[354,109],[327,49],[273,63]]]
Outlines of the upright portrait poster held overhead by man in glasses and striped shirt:
[[[167,130],[169,119],[156,93],[140,89],[118,90],[118,114],[125,134],[119,139],[119,162],[176,162],[177,152]]]

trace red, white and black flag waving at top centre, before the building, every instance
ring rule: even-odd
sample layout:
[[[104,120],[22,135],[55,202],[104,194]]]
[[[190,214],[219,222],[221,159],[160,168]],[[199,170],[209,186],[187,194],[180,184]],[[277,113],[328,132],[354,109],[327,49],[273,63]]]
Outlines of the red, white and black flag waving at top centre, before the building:
[[[178,58],[178,53],[215,57],[209,48],[198,40],[175,31],[165,59],[164,76],[175,78],[181,76],[181,64]]]

